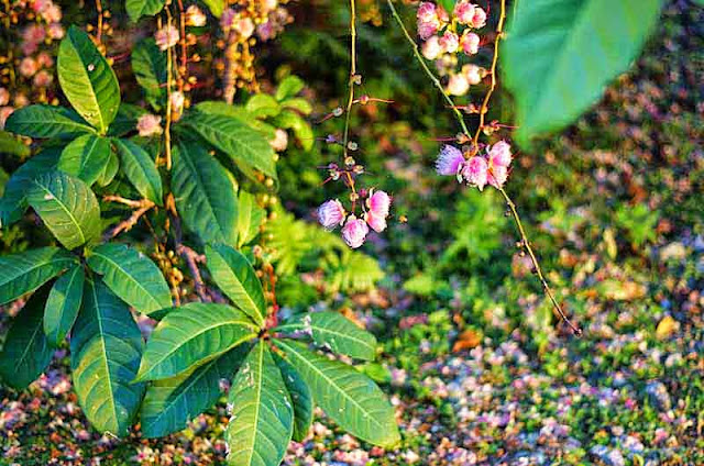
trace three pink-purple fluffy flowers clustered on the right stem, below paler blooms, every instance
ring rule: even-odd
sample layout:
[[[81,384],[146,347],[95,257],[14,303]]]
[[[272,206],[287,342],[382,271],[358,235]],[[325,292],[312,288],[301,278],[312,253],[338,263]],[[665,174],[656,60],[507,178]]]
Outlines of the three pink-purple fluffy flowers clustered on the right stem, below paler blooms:
[[[510,145],[506,141],[499,141],[488,146],[485,154],[473,155],[469,159],[464,158],[459,148],[446,145],[436,162],[436,170],[439,175],[457,176],[459,182],[464,181],[480,191],[486,185],[499,189],[508,179],[508,167],[513,158]]]

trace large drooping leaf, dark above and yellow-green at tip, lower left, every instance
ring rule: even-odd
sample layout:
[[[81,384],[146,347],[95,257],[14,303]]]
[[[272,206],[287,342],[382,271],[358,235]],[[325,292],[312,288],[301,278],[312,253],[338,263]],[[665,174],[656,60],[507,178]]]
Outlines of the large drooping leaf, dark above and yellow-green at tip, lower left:
[[[144,384],[132,384],[144,343],[130,310],[100,281],[86,282],[70,339],[78,403],[99,432],[123,437],[140,408]]]

